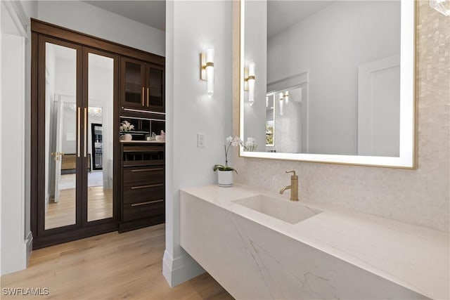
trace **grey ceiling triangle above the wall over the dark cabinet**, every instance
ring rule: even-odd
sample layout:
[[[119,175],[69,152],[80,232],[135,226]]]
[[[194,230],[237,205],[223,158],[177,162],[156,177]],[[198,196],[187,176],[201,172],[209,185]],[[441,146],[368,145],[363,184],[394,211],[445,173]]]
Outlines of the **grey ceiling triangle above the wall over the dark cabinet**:
[[[84,1],[105,11],[141,22],[158,30],[166,30],[166,1]]]

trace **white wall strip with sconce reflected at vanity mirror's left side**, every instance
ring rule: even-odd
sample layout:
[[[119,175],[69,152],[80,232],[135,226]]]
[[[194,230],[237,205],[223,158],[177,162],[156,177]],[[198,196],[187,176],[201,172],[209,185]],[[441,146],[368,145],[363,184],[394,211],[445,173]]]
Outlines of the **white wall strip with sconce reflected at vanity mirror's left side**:
[[[267,65],[267,20],[266,1],[245,1],[245,51],[244,64],[255,63],[255,103],[250,106],[248,91],[244,91],[244,122],[243,139],[256,139],[256,151],[264,151],[266,145],[266,65]]]

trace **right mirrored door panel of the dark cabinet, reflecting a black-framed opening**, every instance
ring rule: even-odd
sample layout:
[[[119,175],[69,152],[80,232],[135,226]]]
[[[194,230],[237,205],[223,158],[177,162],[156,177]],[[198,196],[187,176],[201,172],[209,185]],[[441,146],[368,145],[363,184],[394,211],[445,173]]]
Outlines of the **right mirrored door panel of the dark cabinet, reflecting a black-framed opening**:
[[[113,217],[114,60],[88,55],[87,221]]]

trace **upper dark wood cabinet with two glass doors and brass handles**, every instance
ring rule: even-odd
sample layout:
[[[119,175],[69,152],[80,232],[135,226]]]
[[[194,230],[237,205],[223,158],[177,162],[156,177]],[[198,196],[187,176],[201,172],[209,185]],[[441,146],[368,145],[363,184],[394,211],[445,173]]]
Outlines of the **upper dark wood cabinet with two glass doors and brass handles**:
[[[122,57],[122,107],[149,112],[165,112],[164,67]]]

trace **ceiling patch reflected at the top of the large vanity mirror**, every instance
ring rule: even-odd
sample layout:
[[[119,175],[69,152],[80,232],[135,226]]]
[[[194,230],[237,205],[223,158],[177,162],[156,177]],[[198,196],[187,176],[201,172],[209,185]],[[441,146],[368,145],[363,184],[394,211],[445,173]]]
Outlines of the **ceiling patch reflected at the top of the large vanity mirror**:
[[[292,27],[335,1],[267,1],[267,38]]]

